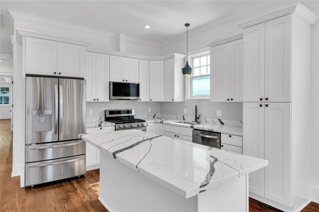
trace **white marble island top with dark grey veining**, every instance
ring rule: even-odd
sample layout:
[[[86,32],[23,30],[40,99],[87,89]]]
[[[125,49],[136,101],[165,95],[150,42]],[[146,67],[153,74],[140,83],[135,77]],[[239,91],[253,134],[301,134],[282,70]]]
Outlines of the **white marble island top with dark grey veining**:
[[[137,129],[81,138],[184,198],[268,165],[268,161]]]

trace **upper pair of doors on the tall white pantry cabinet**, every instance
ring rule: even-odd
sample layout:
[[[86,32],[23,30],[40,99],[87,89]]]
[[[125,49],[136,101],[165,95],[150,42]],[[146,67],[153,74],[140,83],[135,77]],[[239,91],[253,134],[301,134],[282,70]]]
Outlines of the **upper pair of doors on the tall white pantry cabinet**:
[[[291,15],[244,29],[244,102],[291,102]]]

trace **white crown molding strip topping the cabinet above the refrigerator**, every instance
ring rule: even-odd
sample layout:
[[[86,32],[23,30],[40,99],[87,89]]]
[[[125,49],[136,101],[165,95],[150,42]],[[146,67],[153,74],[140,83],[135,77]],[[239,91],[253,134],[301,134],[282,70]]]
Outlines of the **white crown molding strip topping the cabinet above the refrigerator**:
[[[54,40],[58,42],[71,43],[71,44],[76,44],[81,46],[88,46],[90,44],[90,42],[86,42],[82,40],[58,37],[54,35],[38,33],[38,32],[24,30],[24,29],[15,29],[15,38],[16,38],[16,41],[20,44],[22,44],[22,36],[35,37],[35,38],[46,39],[46,40]]]

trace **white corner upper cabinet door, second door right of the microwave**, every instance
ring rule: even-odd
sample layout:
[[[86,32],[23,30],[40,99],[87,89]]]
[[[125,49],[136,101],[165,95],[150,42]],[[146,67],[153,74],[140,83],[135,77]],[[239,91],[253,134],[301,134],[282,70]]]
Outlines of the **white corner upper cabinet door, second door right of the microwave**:
[[[150,101],[164,101],[164,61],[150,61]]]

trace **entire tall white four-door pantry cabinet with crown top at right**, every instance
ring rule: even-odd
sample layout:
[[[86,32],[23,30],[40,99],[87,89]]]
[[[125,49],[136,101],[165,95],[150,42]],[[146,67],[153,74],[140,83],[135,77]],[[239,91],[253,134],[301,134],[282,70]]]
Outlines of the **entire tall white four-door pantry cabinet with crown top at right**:
[[[289,11],[289,12],[288,12]],[[244,29],[243,153],[269,160],[250,197],[283,211],[310,199],[312,26],[300,3],[237,24]]]

